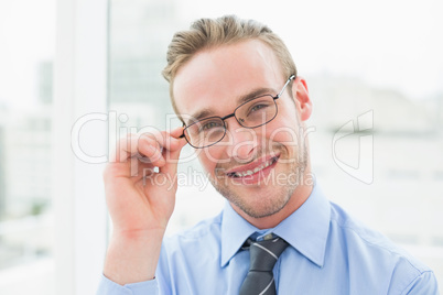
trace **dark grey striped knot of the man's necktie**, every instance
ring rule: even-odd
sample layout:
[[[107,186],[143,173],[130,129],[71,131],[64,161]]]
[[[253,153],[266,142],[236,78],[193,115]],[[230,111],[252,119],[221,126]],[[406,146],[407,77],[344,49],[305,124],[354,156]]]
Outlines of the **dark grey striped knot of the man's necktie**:
[[[271,272],[288,242],[281,238],[253,242],[249,240],[250,271]]]

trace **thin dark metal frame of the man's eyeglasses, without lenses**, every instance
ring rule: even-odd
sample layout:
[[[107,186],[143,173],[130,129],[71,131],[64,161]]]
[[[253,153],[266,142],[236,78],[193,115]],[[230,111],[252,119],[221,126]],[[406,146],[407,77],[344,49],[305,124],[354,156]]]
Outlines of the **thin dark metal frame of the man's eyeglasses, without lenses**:
[[[292,80],[294,80],[295,78],[296,78],[296,76],[295,76],[294,74],[292,74],[291,76],[289,76],[287,83],[283,85],[283,88],[280,90],[280,92],[279,92],[277,96],[272,96],[272,95],[263,95],[263,96],[270,96],[270,97],[272,97],[273,102],[275,103],[275,100],[279,99],[279,98],[282,96],[282,94],[284,92],[284,89],[287,88],[287,86],[288,86]],[[245,102],[240,103],[239,106],[237,106],[237,107],[235,108],[234,112],[231,112],[231,113],[229,113],[229,114],[226,114],[225,117],[219,117],[219,116],[206,117],[206,118],[202,118],[202,119],[199,119],[199,120],[193,122],[193,123],[190,124],[190,125],[186,125],[185,123],[183,123],[183,127],[184,127],[184,129],[183,129],[183,134],[180,135],[179,138],[180,138],[180,139],[183,139],[183,138],[184,138],[184,139],[187,141],[187,143],[188,143],[192,148],[194,148],[194,149],[204,149],[204,148],[208,148],[208,146],[213,146],[214,144],[217,144],[218,142],[220,142],[220,141],[225,138],[225,135],[226,135],[226,130],[227,130],[225,120],[227,120],[227,119],[229,119],[229,118],[231,118],[231,117],[234,117],[234,118],[236,119],[236,121],[237,121],[241,127],[247,128],[247,129],[255,129],[255,128],[264,125],[264,124],[269,123],[270,121],[272,121],[272,120],[277,117],[277,114],[279,113],[279,108],[277,107],[277,103],[275,103],[275,114],[272,117],[272,119],[270,119],[269,121],[267,121],[267,122],[264,122],[264,123],[262,123],[262,124],[259,124],[259,125],[255,125],[255,127],[247,127],[247,125],[244,125],[244,124],[237,119],[237,117],[236,117],[236,111],[237,111],[239,108],[241,108],[244,105],[249,103],[249,102],[251,102],[252,100],[258,99],[258,98],[263,97],[263,96],[258,96],[258,97],[255,97],[255,98],[252,98],[252,99],[249,99],[248,101],[245,101]],[[185,130],[186,130],[187,128],[192,127],[193,124],[198,123],[199,121],[207,120],[207,119],[210,119],[210,118],[219,118],[219,119],[223,121],[223,124],[224,124],[224,127],[225,127],[225,133],[223,134],[223,136],[222,136],[218,141],[216,141],[216,142],[214,142],[214,143],[210,143],[210,144],[204,145],[204,146],[194,146],[194,145],[187,140],[187,138],[186,138],[186,135],[185,135]]]

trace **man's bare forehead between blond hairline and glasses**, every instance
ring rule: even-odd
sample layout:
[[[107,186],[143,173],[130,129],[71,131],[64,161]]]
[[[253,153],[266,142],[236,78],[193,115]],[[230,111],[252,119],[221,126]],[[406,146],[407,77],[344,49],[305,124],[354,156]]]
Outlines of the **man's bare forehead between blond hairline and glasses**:
[[[282,76],[275,54],[261,41],[205,50],[179,69],[173,85],[175,105],[183,116],[202,109],[222,112],[230,108],[230,112],[238,97],[258,88],[275,88]]]

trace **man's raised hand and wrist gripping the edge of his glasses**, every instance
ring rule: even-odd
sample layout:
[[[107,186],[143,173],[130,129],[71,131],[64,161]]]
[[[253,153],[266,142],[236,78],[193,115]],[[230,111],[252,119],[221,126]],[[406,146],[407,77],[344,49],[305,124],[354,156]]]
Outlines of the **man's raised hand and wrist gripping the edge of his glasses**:
[[[104,173],[114,232],[105,275],[119,284],[154,276],[168,221],[174,210],[180,139],[170,133],[130,134],[121,139]]]

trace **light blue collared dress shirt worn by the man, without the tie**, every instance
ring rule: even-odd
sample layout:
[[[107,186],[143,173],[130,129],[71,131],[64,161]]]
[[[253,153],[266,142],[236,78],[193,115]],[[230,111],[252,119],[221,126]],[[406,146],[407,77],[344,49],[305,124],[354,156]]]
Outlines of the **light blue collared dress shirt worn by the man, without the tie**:
[[[317,186],[269,230],[258,230],[226,204],[218,216],[164,239],[154,280],[121,286],[104,276],[97,294],[237,295],[249,269],[241,245],[251,234],[269,233],[290,244],[273,269],[278,294],[439,294],[428,266],[355,221]]]

